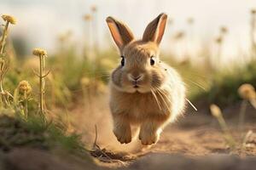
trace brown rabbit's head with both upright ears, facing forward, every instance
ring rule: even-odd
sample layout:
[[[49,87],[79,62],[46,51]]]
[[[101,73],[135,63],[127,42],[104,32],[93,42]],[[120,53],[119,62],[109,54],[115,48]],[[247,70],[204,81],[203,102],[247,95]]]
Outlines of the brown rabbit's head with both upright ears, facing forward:
[[[112,73],[114,88],[126,93],[148,93],[166,82],[166,69],[159,59],[159,45],[166,28],[166,14],[151,21],[143,39],[135,40],[131,30],[113,17],[107,18],[109,30],[119,48],[120,63]]]

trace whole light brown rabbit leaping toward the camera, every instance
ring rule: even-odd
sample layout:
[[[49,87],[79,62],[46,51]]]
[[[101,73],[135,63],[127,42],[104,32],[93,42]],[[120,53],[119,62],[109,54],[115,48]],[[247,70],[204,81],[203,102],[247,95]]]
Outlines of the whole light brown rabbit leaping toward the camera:
[[[162,129],[183,114],[183,80],[159,57],[166,20],[167,15],[160,14],[148,24],[143,38],[135,40],[123,22],[106,19],[121,57],[109,81],[113,133],[121,144],[131,142],[131,126],[139,129],[142,144],[155,144]]]

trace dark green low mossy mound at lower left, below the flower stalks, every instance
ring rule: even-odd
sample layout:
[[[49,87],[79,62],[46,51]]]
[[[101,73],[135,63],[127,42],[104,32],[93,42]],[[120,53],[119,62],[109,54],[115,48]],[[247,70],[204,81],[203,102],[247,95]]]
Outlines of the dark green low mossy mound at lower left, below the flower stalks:
[[[39,116],[20,116],[19,112],[5,113],[0,116],[1,150],[15,147],[32,147],[43,150],[65,150],[74,155],[85,153],[80,136],[67,134],[66,127],[58,122],[45,122]]]

